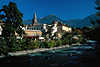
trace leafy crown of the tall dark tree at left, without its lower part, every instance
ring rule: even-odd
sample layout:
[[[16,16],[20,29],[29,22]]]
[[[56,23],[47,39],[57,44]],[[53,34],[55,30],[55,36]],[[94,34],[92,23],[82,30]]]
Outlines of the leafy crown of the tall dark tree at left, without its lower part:
[[[15,36],[17,32],[20,36],[23,34],[22,17],[23,14],[18,10],[15,3],[10,2],[9,5],[4,5],[2,10],[5,12],[5,17],[2,18],[4,21],[3,25],[3,37]]]

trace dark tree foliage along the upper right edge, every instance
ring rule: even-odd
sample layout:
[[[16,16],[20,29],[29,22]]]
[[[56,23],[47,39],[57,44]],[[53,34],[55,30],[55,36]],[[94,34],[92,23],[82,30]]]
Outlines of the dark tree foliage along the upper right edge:
[[[91,19],[93,24],[92,30],[89,32],[90,39],[100,41],[100,1],[96,0],[96,23]]]

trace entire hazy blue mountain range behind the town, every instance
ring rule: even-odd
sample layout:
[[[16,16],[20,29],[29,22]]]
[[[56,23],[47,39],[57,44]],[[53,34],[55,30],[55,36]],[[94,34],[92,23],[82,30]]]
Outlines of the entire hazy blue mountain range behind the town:
[[[84,19],[72,19],[72,20],[62,20],[59,17],[55,16],[55,15],[48,15],[46,17],[40,18],[38,19],[38,22],[40,24],[51,24],[52,21],[54,20],[58,20],[63,22],[64,24],[68,24],[71,27],[78,27],[78,28],[82,28],[84,26],[91,26],[91,20],[93,20],[94,22],[96,22],[96,15],[92,14],[90,16],[85,17]],[[32,20],[25,20],[24,24],[31,24]]]

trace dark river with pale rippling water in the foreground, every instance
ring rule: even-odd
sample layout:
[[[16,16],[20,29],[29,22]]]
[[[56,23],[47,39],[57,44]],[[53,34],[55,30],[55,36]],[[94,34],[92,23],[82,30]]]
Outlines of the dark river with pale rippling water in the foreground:
[[[93,67],[95,57],[95,44],[82,44],[70,48],[1,58],[0,67]]]

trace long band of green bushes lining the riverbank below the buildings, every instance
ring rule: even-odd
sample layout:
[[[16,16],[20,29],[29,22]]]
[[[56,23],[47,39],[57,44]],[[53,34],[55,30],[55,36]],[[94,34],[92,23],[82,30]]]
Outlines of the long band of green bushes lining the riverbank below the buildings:
[[[48,49],[56,49],[56,48],[63,48],[69,47],[73,44],[73,42],[68,42],[67,40],[50,40],[50,41],[39,41],[39,40],[32,40],[32,39],[21,39],[15,40],[11,45],[7,45],[6,40],[1,39],[2,45],[0,45],[0,55],[8,55],[9,53],[18,53],[20,54],[27,54],[31,52],[37,51],[44,51]],[[80,42],[76,42],[80,43]],[[66,45],[67,44],[67,45]],[[75,44],[75,43],[74,43]]]

